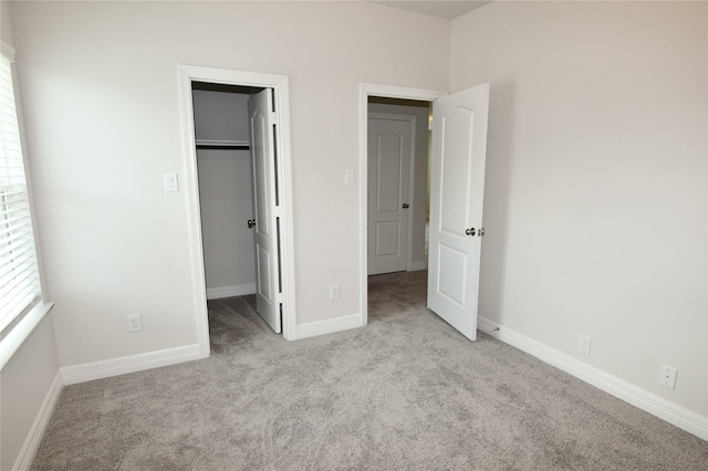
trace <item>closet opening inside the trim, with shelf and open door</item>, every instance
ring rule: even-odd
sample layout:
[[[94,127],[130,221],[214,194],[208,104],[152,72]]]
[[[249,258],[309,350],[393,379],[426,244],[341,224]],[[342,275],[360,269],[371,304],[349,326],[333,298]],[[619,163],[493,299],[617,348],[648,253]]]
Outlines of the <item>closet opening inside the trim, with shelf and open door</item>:
[[[191,82],[211,348],[263,326],[282,332],[274,90]]]

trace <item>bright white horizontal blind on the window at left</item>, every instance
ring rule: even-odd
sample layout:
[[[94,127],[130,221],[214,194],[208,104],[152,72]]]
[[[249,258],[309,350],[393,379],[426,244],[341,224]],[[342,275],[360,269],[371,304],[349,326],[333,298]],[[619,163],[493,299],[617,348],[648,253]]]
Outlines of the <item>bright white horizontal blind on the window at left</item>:
[[[11,61],[0,54],[0,338],[40,301]]]

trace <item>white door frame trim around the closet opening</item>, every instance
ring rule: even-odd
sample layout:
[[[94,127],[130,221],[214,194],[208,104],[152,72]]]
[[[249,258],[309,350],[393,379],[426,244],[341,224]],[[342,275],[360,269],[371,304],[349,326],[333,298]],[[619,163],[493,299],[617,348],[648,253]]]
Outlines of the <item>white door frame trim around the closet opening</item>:
[[[195,300],[195,321],[199,356],[210,354],[207,281],[201,238],[201,208],[197,174],[192,82],[273,88],[277,111],[278,191],[281,217],[280,266],[282,276],[282,333],[288,341],[295,338],[295,265],[292,208],[292,160],[290,140],[290,94],[287,75],[240,72],[226,69],[179,65],[179,96],[185,156],[185,188],[187,191],[188,232],[190,240],[191,280]]]

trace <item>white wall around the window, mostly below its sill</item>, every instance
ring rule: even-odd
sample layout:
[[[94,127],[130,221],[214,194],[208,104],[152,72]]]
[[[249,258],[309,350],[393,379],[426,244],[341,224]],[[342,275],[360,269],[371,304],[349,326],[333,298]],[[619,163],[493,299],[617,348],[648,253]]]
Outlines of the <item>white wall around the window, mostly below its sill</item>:
[[[1,36],[13,45],[9,4],[0,2]],[[15,84],[15,94],[20,87]],[[30,334],[0,376],[0,469],[10,470],[32,454],[41,435],[42,414],[51,414],[52,386],[59,373],[52,314]],[[58,386],[61,388],[61,383]],[[49,407],[43,410],[43,405]]]

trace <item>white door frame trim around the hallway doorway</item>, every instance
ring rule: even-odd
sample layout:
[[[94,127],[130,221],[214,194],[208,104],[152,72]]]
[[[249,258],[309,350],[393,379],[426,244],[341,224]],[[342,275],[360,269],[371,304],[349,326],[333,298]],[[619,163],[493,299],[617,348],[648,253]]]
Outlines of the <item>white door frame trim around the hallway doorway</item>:
[[[395,85],[360,83],[358,86],[358,227],[360,227],[360,293],[362,325],[368,324],[368,97],[419,100],[435,102],[448,92],[425,88],[409,88]]]

